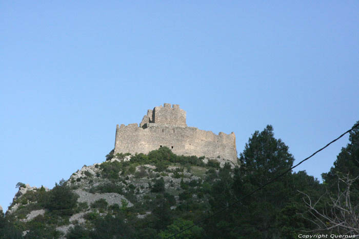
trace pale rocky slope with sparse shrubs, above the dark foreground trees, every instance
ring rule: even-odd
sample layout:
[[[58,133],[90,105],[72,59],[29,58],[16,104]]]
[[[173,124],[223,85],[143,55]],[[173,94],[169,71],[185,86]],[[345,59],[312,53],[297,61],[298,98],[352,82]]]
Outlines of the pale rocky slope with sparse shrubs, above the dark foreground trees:
[[[141,157],[147,159],[147,156]],[[34,232],[38,224],[51,232],[49,235],[53,238],[67,238],[71,228],[77,226],[91,231],[100,218],[106,215],[115,218],[119,212],[126,215],[125,221],[146,220],[161,200],[173,213],[185,202],[188,207],[189,200],[208,205],[205,181],[220,168],[220,162],[208,163],[197,158],[192,158],[195,163],[159,160],[146,164],[138,160],[138,156],[131,159],[131,156],[117,155],[108,159],[83,166],[52,190],[18,185],[19,190],[6,214],[13,217],[16,228],[25,238],[31,238],[31,233],[43,233]],[[71,206],[62,207],[62,201],[54,196],[55,190],[70,193],[67,198],[74,195],[75,203],[64,198],[61,199],[64,204]]]

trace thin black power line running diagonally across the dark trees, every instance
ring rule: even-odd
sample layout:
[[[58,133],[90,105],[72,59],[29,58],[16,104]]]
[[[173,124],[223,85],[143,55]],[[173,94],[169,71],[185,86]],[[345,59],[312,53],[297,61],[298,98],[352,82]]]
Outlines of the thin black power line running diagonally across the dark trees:
[[[267,186],[267,185],[273,183],[273,182],[276,181],[278,178],[281,178],[281,177],[284,176],[287,172],[291,171],[293,168],[297,167],[298,165],[300,165],[300,164],[303,163],[304,161],[310,159],[311,157],[313,157],[314,155],[316,155],[317,153],[319,153],[320,151],[322,151],[323,149],[325,149],[326,147],[328,147],[330,144],[334,143],[334,142],[337,141],[338,139],[342,138],[344,135],[346,135],[346,134],[348,134],[349,132],[351,132],[351,131],[352,131],[355,127],[357,127],[357,126],[359,126],[359,123],[354,124],[353,127],[351,127],[350,129],[348,129],[348,131],[344,132],[341,136],[339,136],[339,137],[337,137],[336,139],[332,140],[331,142],[329,142],[327,145],[325,145],[325,146],[322,147],[321,149],[316,150],[311,156],[309,156],[309,157],[303,159],[301,162],[297,163],[297,164],[294,165],[293,167],[291,167],[291,168],[289,168],[288,170],[286,170],[285,172],[281,173],[280,175],[278,175],[278,176],[275,177],[274,179],[272,179],[272,180],[268,181],[267,183],[263,184],[261,187],[258,187],[257,189],[253,190],[252,192],[250,192],[250,193],[244,195],[242,198],[238,199],[238,200],[235,201],[234,203],[228,205],[227,207],[224,207],[223,209],[221,209],[221,210],[219,210],[219,211],[213,213],[212,215],[208,216],[207,218],[205,218],[205,219],[203,219],[203,220],[201,220],[201,221],[199,221],[199,222],[193,224],[192,226],[187,227],[187,228],[185,228],[185,229],[183,229],[183,230],[181,230],[181,231],[179,231],[179,232],[177,232],[177,233],[175,233],[175,234],[173,234],[173,235],[171,235],[171,236],[169,236],[169,237],[167,237],[167,238],[171,238],[171,237],[173,237],[173,236],[175,236],[175,235],[178,235],[178,234],[180,234],[180,233],[182,233],[182,232],[184,232],[184,231],[187,231],[188,229],[190,229],[190,228],[192,228],[192,227],[194,227],[194,226],[196,226],[196,225],[198,225],[198,224],[200,224],[200,223],[203,223],[204,221],[206,221],[206,220],[212,218],[213,216],[215,216],[215,215],[217,215],[217,214],[223,212],[223,211],[226,210],[227,208],[232,207],[234,204],[236,204],[236,203],[242,201],[243,199],[249,197],[249,196],[252,195],[253,193],[255,193],[255,192],[261,190],[261,189],[264,188],[265,186]]]

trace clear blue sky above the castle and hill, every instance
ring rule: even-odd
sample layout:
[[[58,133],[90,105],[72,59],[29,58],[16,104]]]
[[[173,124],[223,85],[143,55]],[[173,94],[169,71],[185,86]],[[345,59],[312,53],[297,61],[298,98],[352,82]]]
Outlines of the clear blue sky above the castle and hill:
[[[102,162],[116,124],[166,103],[232,131],[272,124],[296,162],[359,120],[358,1],[1,1],[0,205]],[[299,170],[321,179],[348,136]]]

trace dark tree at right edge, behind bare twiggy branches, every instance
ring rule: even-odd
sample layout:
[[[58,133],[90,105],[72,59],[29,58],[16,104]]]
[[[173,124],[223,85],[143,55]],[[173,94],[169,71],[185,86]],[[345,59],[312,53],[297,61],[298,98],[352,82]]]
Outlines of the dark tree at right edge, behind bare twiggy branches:
[[[350,131],[349,141],[338,154],[333,167],[323,173],[326,192],[313,197],[315,192],[303,192],[309,215],[305,219],[316,228],[310,231],[359,234],[359,121]],[[317,193],[316,193],[317,194]]]

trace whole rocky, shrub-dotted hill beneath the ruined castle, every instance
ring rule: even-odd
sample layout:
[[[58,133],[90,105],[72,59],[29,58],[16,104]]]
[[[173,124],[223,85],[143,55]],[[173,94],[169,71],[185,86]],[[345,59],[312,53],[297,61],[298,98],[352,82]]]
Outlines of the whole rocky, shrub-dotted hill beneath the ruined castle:
[[[166,147],[106,157],[51,190],[18,183],[6,212],[13,238],[165,237],[173,216],[190,225],[188,219],[205,214],[220,166],[234,168],[224,160],[176,156]],[[191,233],[201,230],[193,227]]]

